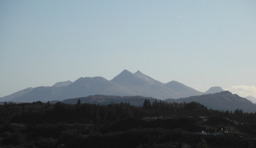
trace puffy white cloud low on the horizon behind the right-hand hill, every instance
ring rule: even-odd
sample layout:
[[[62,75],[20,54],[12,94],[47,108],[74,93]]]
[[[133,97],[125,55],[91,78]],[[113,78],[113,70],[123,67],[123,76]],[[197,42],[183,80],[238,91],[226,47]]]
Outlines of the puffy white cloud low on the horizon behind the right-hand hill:
[[[237,94],[241,97],[253,96],[256,98],[256,86],[246,86],[246,85],[238,85],[231,86],[231,88],[226,88],[224,90],[230,91],[232,94]]]

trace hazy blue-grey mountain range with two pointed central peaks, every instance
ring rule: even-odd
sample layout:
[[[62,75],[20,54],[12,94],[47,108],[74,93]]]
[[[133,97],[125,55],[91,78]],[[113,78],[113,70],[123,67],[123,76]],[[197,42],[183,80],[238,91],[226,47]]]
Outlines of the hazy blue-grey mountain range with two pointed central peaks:
[[[164,100],[167,98],[178,99],[220,91],[224,90],[220,87],[212,87],[203,93],[177,81],[162,83],[140,71],[132,74],[130,71],[124,70],[110,81],[103,77],[81,77],[74,82],[57,82],[50,87],[26,88],[12,95],[4,96],[0,98],[0,101],[34,102],[40,100],[47,102],[89,95],[140,95]]]

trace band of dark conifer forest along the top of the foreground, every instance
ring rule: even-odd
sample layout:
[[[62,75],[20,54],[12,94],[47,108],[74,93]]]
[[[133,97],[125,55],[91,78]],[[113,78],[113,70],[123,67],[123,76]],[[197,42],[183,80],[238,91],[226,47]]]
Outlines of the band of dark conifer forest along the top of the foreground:
[[[256,123],[256,113],[243,112],[241,109],[233,111],[219,111],[207,109],[198,102],[150,102],[145,99],[143,106],[133,106],[129,102],[99,104],[64,104],[61,102],[50,104],[41,101],[33,103],[5,103],[0,105],[0,124],[26,123],[86,123],[110,125],[116,121],[130,117],[167,117],[167,116],[209,116],[228,118],[240,122]]]

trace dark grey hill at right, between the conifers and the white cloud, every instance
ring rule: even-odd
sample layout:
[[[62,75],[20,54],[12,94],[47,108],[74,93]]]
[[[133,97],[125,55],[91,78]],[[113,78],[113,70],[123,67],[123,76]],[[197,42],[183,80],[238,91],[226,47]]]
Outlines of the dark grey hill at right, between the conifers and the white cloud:
[[[243,109],[244,112],[255,112],[256,104],[253,104],[251,101],[246,98],[240,97],[239,95],[232,94],[229,91],[222,91],[215,94],[191,96],[187,98],[180,99],[166,99],[166,102],[200,102],[204,106],[207,106],[208,109],[218,109],[218,110],[229,110],[233,111],[235,109]]]

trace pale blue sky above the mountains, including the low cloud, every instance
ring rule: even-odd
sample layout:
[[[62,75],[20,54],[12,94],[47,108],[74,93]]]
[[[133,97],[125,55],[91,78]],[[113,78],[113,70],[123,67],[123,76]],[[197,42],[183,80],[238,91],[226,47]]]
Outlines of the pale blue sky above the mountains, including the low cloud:
[[[0,97],[124,69],[256,97],[256,1],[0,2]]]

